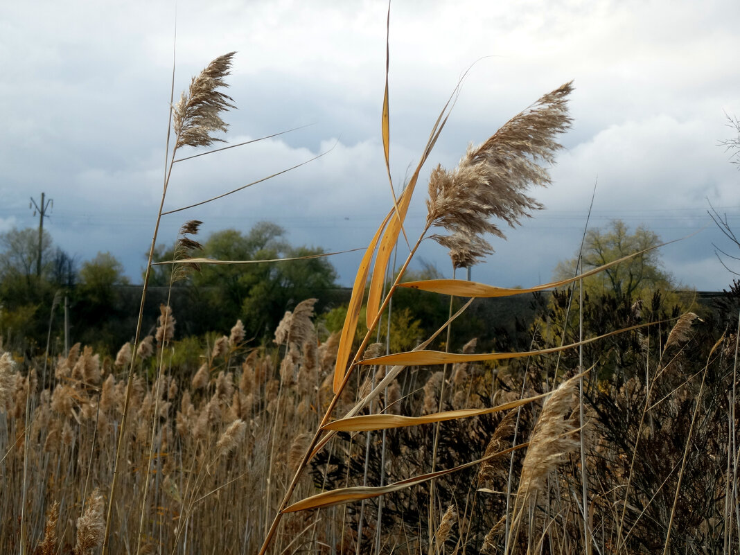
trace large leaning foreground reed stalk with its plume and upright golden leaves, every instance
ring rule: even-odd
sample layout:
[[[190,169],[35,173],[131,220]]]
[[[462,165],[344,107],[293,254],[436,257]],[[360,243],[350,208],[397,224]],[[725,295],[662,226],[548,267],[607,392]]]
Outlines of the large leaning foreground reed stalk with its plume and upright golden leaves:
[[[387,55],[387,50],[386,50]],[[387,59],[387,58],[386,58]],[[323,506],[323,499],[331,498],[332,492],[314,496],[317,503],[311,499],[289,507],[289,500],[297,485],[300,475],[316,453],[319,445],[323,445],[332,432],[326,429],[329,425],[337,406],[340,395],[349,383],[349,378],[360,364],[388,363],[388,357],[380,357],[371,360],[362,360],[363,352],[370,343],[371,335],[380,322],[380,317],[388,308],[394,292],[402,285],[404,275],[414,254],[425,238],[432,238],[443,246],[451,249],[453,261],[456,266],[467,266],[480,260],[492,252],[490,244],[482,237],[485,233],[492,233],[504,237],[503,233],[492,223],[492,219],[499,220],[514,226],[519,219],[529,215],[531,210],[542,206],[534,199],[525,195],[532,185],[544,186],[550,183],[547,170],[540,166],[540,162],[551,163],[554,161],[554,152],[560,145],[554,141],[556,135],[565,131],[570,126],[570,118],[567,112],[567,97],[572,90],[571,84],[565,84],[548,95],[540,98],[525,112],[508,121],[499,131],[491,136],[484,144],[477,148],[469,148],[467,154],[462,158],[460,164],[453,171],[447,171],[437,166],[431,172],[427,201],[428,215],[423,231],[419,238],[410,248],[406,261],[401,266],[394,283],[383,295],[384,276],[388,267],[391,252],[397,243],[403,229],[403,221],[417,184],[421,169],[434,147],[434,143],[444,127],[448,117],[448,108],[451,101],[437,118],[434,124],[425,152],[411,180],[404,189],[400,198],[395,198],[394,208],[388,213],[380,228],[374,235],[373,240],[366,250],[366,254],[360,263],[360,270],[355,278],[352,297],[349,303],[347,317],[342,331],[342,339],[337,354],[337,366],[334,371],[334,397],[321,420],[319,428],[309,443],[306,453],[303,455],[292,482],[286,488],[283,501],[280,502],[278,512],[272,521],[266,538],[260,548],[260,555],[266,553],[272,541],[280,519],[286,511],[295,510],[294,507],[311,508]],[[457,91],[457,90],[456,90]],[[454,93],[455,94],[455,93]],[[454,96],[453,94],[453,96]],[[389,144],[389,117],[388,117],[388,87],[387,87],[387,64],[386,64],[386,93],[383,101],[382,118],[383,145],[386,152],[386,166],[388,166],[388,144]],[[388,166],[389,167],[389,166]],[[388,175],[390,170],[388,169]],[[392,184],[391,184],[392,185]],[[428,235],[433,227],[441,227],[446,234]],[[376,247],[374,271],[369,286],[369,296],[366,306],[366,324],[368,331],[360,342],[359,348],[350,357],[354,333],[357,328],[357,319],[360,314],[366,278],[369,276],[371,260]],[[452,280],[456,281],[456,280]],[[392,358],[394,355],[391,354]],[[349,366],[348,366],[349,363]],[[441,414],[441,413],[438,413]],[[393,415],[385,415],[393,420]],[[362,417],[358,417],[362,418]],[[351,419],[349,419],[351,420]],[[430,420],[434,421],[434,420]],[[396,427],[388,425],[387,427]],[[354,428],[348,428],[354,429]],[[374,428],[368,428],[374,429]],[[379,429],[384,429],[383,427]],[[434,475],[432,473],[430,476]],[[412,482],[413,480],[409,480]],[[369,490],[372,488],[364,488]],[[344,502],[343,494],[338,495],[337,501]],[[321,497],[323,496],[323,497]],[[371,495],[371,497],[374,497]],[[352,497],[363,499],[364,497]],[[333,498],[332,498],[333,499]]]

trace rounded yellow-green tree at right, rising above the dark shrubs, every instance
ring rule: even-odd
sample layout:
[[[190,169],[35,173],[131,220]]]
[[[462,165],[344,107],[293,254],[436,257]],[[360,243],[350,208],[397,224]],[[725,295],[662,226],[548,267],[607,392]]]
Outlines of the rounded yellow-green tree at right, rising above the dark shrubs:
[[[630,232],[619,220],[612,221],[607,229],[593,229],[587,233],[583,247],[583,271],[624,258],[644,249],[658,246],[659,235],[645,226]],[[576,259],[559,263],[556,279],[573,277]],[[676,292],[676,283],[662,268],[659,249],[635,256],[616,266],[585,278],[583,308],[580,310],[577,289],[573,286],[541,297],[542,315],[534,329],[538,346],[575,343],[579,340],[579,319],[582,319],[585,337],[608,334],[637,323],[656,322],[677,317],[690,303]],[[572,295],[575,292],[576,295]],[[695,308],[696,309],[696,308]],[[585,363],[599,362],[600,375],[619,374],[633,365],[630,357],[639,354],[639,330],[617,334],[584,347]],[[578,352],[563,353],[565,367],[577,365]]]

